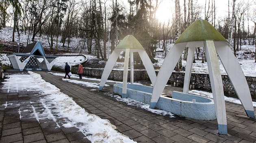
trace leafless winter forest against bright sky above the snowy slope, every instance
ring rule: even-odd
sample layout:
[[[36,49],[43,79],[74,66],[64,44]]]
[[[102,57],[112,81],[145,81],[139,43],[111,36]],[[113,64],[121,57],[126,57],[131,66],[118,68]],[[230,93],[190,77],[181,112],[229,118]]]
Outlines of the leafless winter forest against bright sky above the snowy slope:
[[[13,27],[12,42],[15,42],[15,32],[26,34],[27,43],[36,41],[37,34],[45,34],[48,46],[56,51],[60,48],[58,43],[69,51],[71,39],[79,38],[80,49],[87,49],[88,54],[102,60],[107,59],[108,44],[112,51],[130,34],[137,38],[154,62],[156,44],[162,41],[166,53],[167,40],[174,43],[197,19],[211,23],[228,40],[234,55],[241,50],[242,41],[247,40],[249,45],[256,47],[255,0],[228,0],[226,9],[219,10],[227,11],[223,17],[216,12],[215,0],[172,0],[167,6],[172,16],[161,21],[157,12],[165,1],[0,0],[0,28],[7,24]]]

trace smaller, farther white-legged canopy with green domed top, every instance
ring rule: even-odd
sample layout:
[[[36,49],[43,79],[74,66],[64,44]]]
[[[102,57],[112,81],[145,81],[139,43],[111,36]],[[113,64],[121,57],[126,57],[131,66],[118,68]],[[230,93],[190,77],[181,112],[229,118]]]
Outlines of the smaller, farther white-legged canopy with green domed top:
[[[129,56],[130,56],[130,82],[133,84],[133,78],[134,78],[134,71],[133,71],[133,53],[138,52],[139,56],[141,57],[141,60],[143,62],[143,65],[145,66],[146,71],[148,72],[148,76],[150,77],[150,80],[152,84],[154,85],[156,81],[156,72],[154,70],[154,67],[150,61],[150,58],[148,57],[148,54],[144,50],[143,46],[139,43],[139,41],[132,35],[127,35],[113,50],[112,54],[110,55],[104,71],[102,73],[102,77],[100,80],[100,88],[99,90],[103,89],[104,84],[106,83],[106,80],[108,79],[109,74],[111,73],[111,70],[113,69],[117,58],[119,57],[120,53],[122,51],[125,51],[125,59],[124,59],[124,75],[123,75],[123,90],[122,93],[126,94],[127,91],[127,78],[128,78],[128,62],[129,62]]]

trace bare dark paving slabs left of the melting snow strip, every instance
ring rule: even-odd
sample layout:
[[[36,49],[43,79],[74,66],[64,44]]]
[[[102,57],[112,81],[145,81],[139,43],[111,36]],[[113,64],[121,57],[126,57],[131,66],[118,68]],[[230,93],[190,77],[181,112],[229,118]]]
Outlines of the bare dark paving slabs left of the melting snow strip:
[[[40,93],[7,93],[0,81],[0,143],[90,143],[77,128],[59,128],[53,120],[31,118],[33,108],[37,114],[44,111],[39,102]],[[35,95],[37,97],[35,97]],[[7,107],[5,103],[12,104]],[[20,111],[20,114],[19,114]]]

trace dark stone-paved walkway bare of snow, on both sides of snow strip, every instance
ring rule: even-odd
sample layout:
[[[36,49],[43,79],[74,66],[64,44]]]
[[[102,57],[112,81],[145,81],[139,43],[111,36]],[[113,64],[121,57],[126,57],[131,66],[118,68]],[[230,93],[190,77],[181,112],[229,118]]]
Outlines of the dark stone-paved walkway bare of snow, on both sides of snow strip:
[[[45,71],[35,72],[40,74],[43,80],[72,97],[78,105],[85,108],[85,111],[102,119],[108,119],[119,132],[138,143],[256,143],[256,120],[247,118],[243,107],[238,104],[226,102],[228,135],[219,135],[217,120],[202,121],[178,116],[176,118],[161,116],[104,95],[104,93],[112,93],[113,86],[104,88],[103,91],[92,91],[92,88],[63,81],[61,76],[54,76]],[[61,119],[57,122],[52,120],[38,122],[35,118],[26,118],[31,114],[32,105],[37,107],[38,112],[42,111],[42,105],[36,102],[42,96],[40,93],[25,90],[19,93],[7,93],[7,90],[3,90],[1,86],[0,83],[0,143],[90,142],[81,132],[77,132],[77,128],[61,126]],[[5,108],[6,103],[13,104]],[[22,119],[19,114],[21,110]]]

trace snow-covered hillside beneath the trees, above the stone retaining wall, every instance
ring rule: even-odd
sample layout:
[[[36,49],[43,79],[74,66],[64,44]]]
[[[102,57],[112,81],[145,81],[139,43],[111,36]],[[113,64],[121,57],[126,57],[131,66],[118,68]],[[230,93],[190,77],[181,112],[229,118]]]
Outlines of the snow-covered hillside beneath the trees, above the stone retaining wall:
[[[0,30],[0,41],[5,42],[5,43],[11,43],[12,40],[12,27],[5,27],[2,28]],[[28,35],[25,35],[24,32],[20,33],[20,45],[22,46],[26,46],[27,43],[27,39],[28,39]],[[40,41],[43,45],[43,47],[45,49],[49,49],[49,45],[48,45],[48,41],[46,36],[42,35],[41,37],[36,36],[35,40]],[[28,43],[31,43],[31,40],[28,40]],[[61,37],[59,39],[59,41],[61,41]],[[81,45],[82,45],[82,40],[80,39],[76,39],[76,38],[72,38],[71,42],[70,42],[70,51],[72,53],[66,53],[67,55],[77,55],[77,54],[81,54],[81,55],[85,55],[88,59],[87,63],[90,64],[90,62],[94,62],[91,64],[95,64],[98,63],[99,65],[104,65],[106,63],[106,61],[97,59],[96,56],[94,55],[88,55],[87,54],[87,48],[80,50]],[[12,45],[16,44],[18,46],[19,43],[19,37],[17,36],[17,33],[15,33],[15,43],[11,43]],[[156,49],[156,57],[154,59],[156,59],[158,62],[154,63],[155,67],[161,67],[163,60],[165,59],[165,51],[163,51],[162,49],[162,42],[159,42],[160,45],[158,45],[158,48]],[[170,44],[169,41],[167,41],[167,52],[169,51],[169,49],[172,47],[173,44]],[[245,76],[256,76],[256,63],[254,63],[254,55],[255,55],[255,46],[254,45],[248,45],[247,41],[244,41],[242,46],[241,46],[241,50],[238,51],[236,54],[236,57],[243,69],[243,72],[245,74]],[[63,43],[58,43],[58,47],[59,50],[66,50],[67,47],[62,47]],[[67,44],[65,44],[67,45]],[[56,45],[54,45],[55,47]],[[79,50],[78,50],[79,49]],[[8,51],[8,50],[7,50]],[[17,53],[17,52],[16,52]],[[78,59],[77,59],[78,58]],[[80,57],[59,57],[59,59],[56,59],[56,62],[54,63],[55,66],[58,67],[62,67],[64,65],[65,62],[70,63],[70,65],[75,65],[78,64],[80,62]],[[65,59],[65,61],[63,61]],[[200,58],[199,58],[200,59]],[[10,64],[9,59],[6,57],[6,54],[1,54],[0,55],[0,61],[2,64]],[[185,66],[186,65],[186,61],[182,61],[182,65]],[[221,62],[220,62],[221,65]],[[122,69],[123,63],[122,62],[117,62],[115,64],[114,69]],[[159,68],[158,68],[159,69]],[[201,60],[196,60],[196,63],[193,63],[193,68],[192,68],[192,72],[194,73],[208,73],[208,68],[207,68],[207,63],[202,63]],[[223,66],[221,65],[221,74],[226,74],[225,69],[223,68]]]

